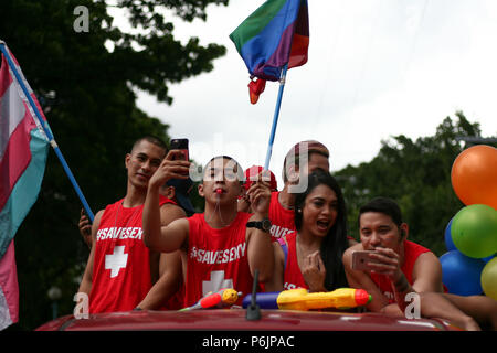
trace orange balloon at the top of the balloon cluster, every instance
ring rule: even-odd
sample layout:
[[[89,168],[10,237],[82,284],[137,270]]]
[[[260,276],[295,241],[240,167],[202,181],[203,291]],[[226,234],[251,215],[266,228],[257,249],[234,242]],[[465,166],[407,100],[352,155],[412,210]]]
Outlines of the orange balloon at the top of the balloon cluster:
[[[465,205],[497,210],[497,148],[477,145],[465,149],[452,164],[452,186]]]

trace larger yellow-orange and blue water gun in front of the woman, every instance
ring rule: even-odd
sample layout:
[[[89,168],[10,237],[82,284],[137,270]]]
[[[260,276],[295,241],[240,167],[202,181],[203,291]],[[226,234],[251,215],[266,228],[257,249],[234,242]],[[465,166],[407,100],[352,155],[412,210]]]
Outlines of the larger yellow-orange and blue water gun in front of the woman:
[[[243,308],[251,303],[251,295],[243,299]],[[339,288],[334,291],[309,293],[305,288],[284,290],[281,292],[263,292],[256,295],[255,302],[262,309],[350,309],[366,306],[372,300],[363,289]]]

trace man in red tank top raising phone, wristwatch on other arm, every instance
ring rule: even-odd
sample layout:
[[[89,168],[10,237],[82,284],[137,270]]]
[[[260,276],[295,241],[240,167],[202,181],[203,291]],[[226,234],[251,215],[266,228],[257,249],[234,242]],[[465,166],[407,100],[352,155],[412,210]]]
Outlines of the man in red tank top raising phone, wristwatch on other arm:
[[[243,171],[232,158],[215,157],[205,165],[199,185],[199,194],[205,199],[204,212],[161,227],[158,188],[169,178],[188,172],[188,168],[167,157],[150,179],[142,218],[145,244],[165,253],[181,249],[188,274],[186,307],[221,288],[247,295],[255,269],[260,281],[273,272],[269,226],[263,222],[268,221],[269,185],[260,180],[248,189],[254,214],[237,212]]]

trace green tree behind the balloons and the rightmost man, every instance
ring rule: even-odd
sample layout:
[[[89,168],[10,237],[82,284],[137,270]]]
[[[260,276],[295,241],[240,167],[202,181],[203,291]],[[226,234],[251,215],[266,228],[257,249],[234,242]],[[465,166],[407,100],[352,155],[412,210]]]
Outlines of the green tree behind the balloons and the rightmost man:
[[[469,147],[456,137],[480,137],[478,124],[462,111],[457,121],[446,117],[434,136],[415,141],[400,135],[382,141],[377,157],[358,167],[337,172],[348,205],[352,236],[359,238],[358,213],[374,196],[396,200],[410,225],[410,239],[431,248],[438,256],[446,252],[444,231],[464,204],[452,189],[451,170],[455,158]]]

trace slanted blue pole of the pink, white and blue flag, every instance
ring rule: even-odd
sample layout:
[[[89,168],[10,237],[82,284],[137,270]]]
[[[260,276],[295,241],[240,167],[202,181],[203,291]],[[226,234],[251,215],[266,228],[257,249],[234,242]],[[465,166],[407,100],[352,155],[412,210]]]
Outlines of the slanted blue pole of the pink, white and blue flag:
[[[89,217],[89,221],[93,223],[94,215],[92,210],[89,208],[88,203],[86,202],[85,196],[83,195],[83,192],[80,189],[80,185],[76,182],[76,179],[74,178],[73,173],[71,172],[71,169],[67,165],[67,162],[65,161],[64,156],[62,154],[61,150],[59,149],[57,143],[55,142],[55,139],[50,131],[50,129],[46,127],[45,121],[42,118],[42,115],[40,114],[38,106],[34,104],[33,98],[31,97],[28,87],[24,85],[24,81],[22,79],[21,75],[19,74],[12,58],[10,57],[9,51],[6,49],[6,42],[0,40],[0,50],[6,55],[7,63],[9,64],[10,69],[14,74],[15,78],[19,82],[19,85],[22,88],[22,92],[24,93],[25,97],[28,98],[28,101],[33,109],[34,114],[36,115],[38,120],[40,121],[40,125],[43,128],[43,131],[45,132],[46,137],[49,138],[50,145],[52,146],[53,150],[55,151],[55,154],[59,157],[59,160],[62,163],[62,167],[64,168],[65,173],[67,174],[68,179],[71,180],[71,183],[73,184],[74,190],[76,191],[77,196],[80,197],[81,202],[83,203],[83,206],[86,211],[86,214]]]

